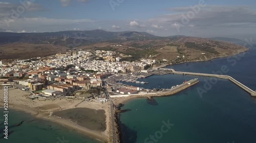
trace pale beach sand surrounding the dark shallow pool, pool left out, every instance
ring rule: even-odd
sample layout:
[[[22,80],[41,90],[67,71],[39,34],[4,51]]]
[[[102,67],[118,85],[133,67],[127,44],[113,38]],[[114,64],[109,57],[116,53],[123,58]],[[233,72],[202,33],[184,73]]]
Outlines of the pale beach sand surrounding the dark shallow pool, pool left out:
[[[29,94],[19,89],[8,89],[8,107],[10,109],[24,111],[31,114],[34,118],[47,120],[54,122],[70,128],[74,131],[80,132],[88,137],[98,139],[102,142],[106,142],[109,139],[109,128],[110,128],[110,113],[109,113],[109,103],[99,104],[95,102],[87,102],[81,99],[42,99],[38,98],[36,100],[29,100],[27,97]],[[3,89],[0,90],[0,96],[3,96]],[[3,98],[0,99],[0,106],[3,107]],[[69,119],[62,119],[56,116],[51,116],[54,111],[73,109],[73,108],[89,108],[93,111],[103,109],[106,116],[105,121],[101,122],[105,124],[106,130],[90,130],[86,127],[79,126],[78,124],[71,122]],[[87,122],[88,125],[94,125],[94,122]]]

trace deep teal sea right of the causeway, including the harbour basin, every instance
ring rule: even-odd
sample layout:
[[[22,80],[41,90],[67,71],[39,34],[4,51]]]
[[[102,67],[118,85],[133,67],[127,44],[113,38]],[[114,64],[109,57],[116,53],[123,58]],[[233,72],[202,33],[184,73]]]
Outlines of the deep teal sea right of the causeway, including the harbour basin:
[[[256,90],[256,48],[206,62],[166,68],[229,75]],[[169,89],[184,81],[200,82],[176,95],[154,101],[136,98],[124,103],[119,125],[127,143],[255,143],[256,97],[226,79],[189,75],[153,75],[126,83],[145,89]]]

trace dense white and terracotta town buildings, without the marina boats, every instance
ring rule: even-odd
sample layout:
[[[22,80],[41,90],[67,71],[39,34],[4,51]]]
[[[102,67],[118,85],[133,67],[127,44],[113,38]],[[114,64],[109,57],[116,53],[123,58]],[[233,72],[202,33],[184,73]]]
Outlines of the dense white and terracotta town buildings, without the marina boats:
[[[102,79],[119,72],[136,72],[153,65],[154,60],[119,62],[113,51],[68,51],[47,58],[0,61],[0,76],[14,81],[1,80],[2,84],[18,83],[24,90],[42,91],[46,95],[72,93],[79,88],[102,86]],[[102,58],[103,60],[96,60]],[[131,91],[132,90],[132,91]],[[137,90],[130,89],[130,94]],[[122,92],[122,91],[120,91]]]

